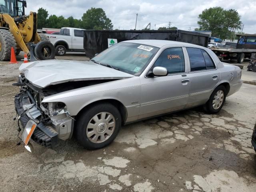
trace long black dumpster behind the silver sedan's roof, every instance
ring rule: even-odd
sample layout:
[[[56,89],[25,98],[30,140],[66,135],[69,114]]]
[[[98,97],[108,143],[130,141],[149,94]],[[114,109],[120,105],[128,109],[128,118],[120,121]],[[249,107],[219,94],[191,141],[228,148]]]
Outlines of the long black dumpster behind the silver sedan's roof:
[[[207,47],[209,35],[183,30],[85,30],[86,55],[94,57],[96,53],[107,49],[108,39],[117,39],[117,42],[137,39],[172,40]]]

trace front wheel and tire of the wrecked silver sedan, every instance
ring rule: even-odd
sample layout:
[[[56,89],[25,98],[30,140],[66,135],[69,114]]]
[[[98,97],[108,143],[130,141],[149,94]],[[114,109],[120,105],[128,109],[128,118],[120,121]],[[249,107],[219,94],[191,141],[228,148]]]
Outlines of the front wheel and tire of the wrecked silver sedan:
[[[105,118],[102,117],[102,113],[106,113]],[[95,118],[97,114],[99,120],[94,121],[93,118],[97,119]],[[109,121],[105,120],[107,118],[109,118]],[[109,126],[112,127],[108,128],[108,122]],[[110,103],[96,104],[79,115],[76,125],[76,138],[79,144],[88,150],[100,149],[108,146],[116,138],[120,128],[121,115],[118,109]],[[110,134],[107,132],[110,132]]]

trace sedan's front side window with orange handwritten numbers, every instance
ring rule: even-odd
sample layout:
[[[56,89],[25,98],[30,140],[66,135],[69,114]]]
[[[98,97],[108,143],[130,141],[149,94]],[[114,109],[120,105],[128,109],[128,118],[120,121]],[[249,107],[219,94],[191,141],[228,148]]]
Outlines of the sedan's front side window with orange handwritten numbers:
[[[167,48],[154,63],[154,67],[160,66],[167,69],[168,74],[185,72],[184,54],[181,47]]]

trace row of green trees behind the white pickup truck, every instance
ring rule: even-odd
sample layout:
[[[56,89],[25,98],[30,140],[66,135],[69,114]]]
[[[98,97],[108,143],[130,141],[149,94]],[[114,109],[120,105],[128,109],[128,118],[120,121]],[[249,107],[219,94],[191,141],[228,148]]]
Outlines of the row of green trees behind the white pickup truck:
[[[74,27],[83,29],[113,29],[113,24],[102,8],[88,9],[81,19],[75,19],[73,16],[64,18],[48,14],[44,8],[39,8],[37,12],[37,28],[62,28]]]

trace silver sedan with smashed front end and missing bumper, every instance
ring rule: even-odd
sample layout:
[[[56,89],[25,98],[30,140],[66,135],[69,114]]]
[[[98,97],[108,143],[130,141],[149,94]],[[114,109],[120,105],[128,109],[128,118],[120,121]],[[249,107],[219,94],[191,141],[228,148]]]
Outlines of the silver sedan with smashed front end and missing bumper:
[[[166,40],[129,40],[87,62],[22,64],[16,111],[22,140],[44,146],[76,136],[88,149],[110,144],[123,124],[203,106],[221,110],[242,85],[241,70],[208,48]]]

